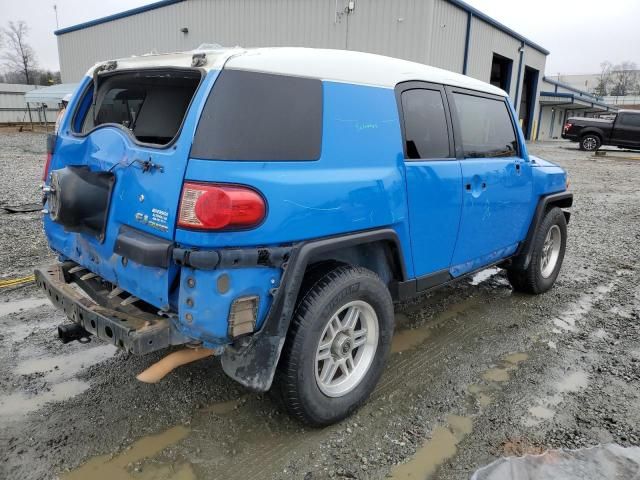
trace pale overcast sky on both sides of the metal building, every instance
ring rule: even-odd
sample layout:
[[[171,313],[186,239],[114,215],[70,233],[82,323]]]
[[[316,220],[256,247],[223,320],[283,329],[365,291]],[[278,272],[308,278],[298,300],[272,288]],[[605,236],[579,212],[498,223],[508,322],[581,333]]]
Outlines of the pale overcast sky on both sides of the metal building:
[[[31,28],[29,41],[40,66],[57,70],[54,4],[58,6],[59,26],[63,28],[151,2],[0,0],[0,24],[6,26],[10,20],[27,21]],[[597,72],[603,60],[614,64],[631,60],[640,65],[640,0],[467,2],[549,50],[547,74]]]

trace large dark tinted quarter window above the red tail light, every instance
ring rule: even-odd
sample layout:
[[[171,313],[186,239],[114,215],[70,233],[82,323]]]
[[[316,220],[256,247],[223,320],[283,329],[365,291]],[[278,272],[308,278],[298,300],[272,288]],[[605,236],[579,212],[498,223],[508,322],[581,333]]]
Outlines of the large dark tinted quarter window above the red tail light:
[[[322,143],[318,79],[223,70],[191,149],[210,160],[317,160]]]

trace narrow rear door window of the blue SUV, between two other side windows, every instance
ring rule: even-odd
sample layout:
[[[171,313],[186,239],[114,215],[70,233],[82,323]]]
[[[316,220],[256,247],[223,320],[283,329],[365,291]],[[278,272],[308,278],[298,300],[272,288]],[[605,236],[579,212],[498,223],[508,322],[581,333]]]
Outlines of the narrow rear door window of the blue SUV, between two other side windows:
[[[402,92],[407,158],[448,158],[449,133],[442,94],[438,90]]]

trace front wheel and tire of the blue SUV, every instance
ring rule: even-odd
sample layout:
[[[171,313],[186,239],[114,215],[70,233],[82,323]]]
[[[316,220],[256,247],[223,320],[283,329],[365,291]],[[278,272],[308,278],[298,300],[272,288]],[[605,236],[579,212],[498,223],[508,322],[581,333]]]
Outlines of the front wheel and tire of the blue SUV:
[[[529,266],[525,270],[507,270],[513,289],[536,295],[549,290],[560,273],[566,247],[567,220],[561,209],[553,207],[545,214],[533,236]]]

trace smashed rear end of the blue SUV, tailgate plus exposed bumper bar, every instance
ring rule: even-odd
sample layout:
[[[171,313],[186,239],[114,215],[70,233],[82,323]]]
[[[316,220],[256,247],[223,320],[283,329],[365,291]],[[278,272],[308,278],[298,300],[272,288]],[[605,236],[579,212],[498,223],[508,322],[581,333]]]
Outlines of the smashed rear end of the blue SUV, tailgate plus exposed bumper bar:
[[[216,67],[229,54],[107,62],[71,99],[48,142],[43,186],[45,234],[60,263],[36,270],[38,285],[74,322],[60,329],[63,340],[95,335],[137,354],[229,342],[226,314],[217,331],[194,329],[189,315],[181,321],[181,304],[193,306],[181,300],[181,284],[193,279],[181,282],[173,258],[197,249],[175,242],[178,224],[193,221],[179,208],[201,194],[185,184],[189,152]],[[254,327],[255,318],[245,333]]]

